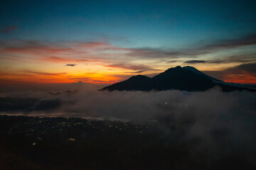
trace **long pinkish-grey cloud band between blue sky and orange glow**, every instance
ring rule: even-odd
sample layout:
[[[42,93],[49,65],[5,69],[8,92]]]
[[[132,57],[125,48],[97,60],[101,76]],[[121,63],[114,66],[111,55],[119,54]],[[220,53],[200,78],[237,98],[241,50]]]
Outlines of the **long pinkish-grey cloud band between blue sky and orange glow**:
[[[50,60],[50,57],[63,58],[68,60],[70,55],[74,60],[82,62],[90,60],[97,62],[99,60],[123,60],[127,62],[129,58],[141,59],[170,59],[181,57],[196,57],[206,55],[219,50],[242,47],[246,45],[256,45],[256,34],[250,34],[241,38],[229,40],[218,40],[208,45],[191,49],[171,50],[162,47],[118,47],[108,42],[41,42],[41,41],[9,41],[0,43],[0,52],[5,54],[24,54],[46,57],[46,60],[58,62],[60,60]],[[132,59],[131,58],[131,59]],[[53,58],[52,58],[53,59]],[[218,61],[216,61],[218,62]]]

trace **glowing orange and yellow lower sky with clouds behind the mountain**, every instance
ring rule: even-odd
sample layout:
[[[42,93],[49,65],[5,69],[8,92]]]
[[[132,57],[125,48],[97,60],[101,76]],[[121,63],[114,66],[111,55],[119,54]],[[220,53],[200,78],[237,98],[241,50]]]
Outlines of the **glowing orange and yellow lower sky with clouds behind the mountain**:
[[[172,52],[117,47],[107,42],[5,42],[0,46],[0,83],[113,84],[137,74],[150,76],[170,67],[191,65],[201,71],[218,72],[210,74],[217,79],[256,84],[254,73],[239,70],[240,64],[250,63],[250,57],[226,57],[225,62],[216,64],[223,60],[216,58],[219,54],[213,52],[191,60],[187,54],[177,58]],[[225,71],[230,68],[236,68],[235,72]]]

